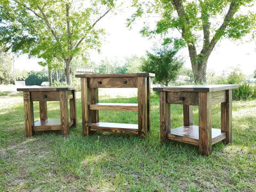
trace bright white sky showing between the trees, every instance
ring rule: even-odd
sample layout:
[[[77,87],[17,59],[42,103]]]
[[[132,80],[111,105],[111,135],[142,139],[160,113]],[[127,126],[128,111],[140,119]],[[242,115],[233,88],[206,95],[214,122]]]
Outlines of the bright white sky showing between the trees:
[[[132,26],[132,29],[126,28],[125,19],[129,17],[129,12],[122,12],[118,16],[106,17],[99,22],[99,27],[106,30],[106,40],[102,44],[102,51],[97,53],[92,51],[91,60],[99,63],[104,58],[120,59],[126,56],[143,56],[146,51],[150,51],[157,40],[148,40],[141,36],[140,29],[143,24]],[[184,67],[191,68],[189,61],[188,48],[179,52],[184,58]],[[42,70],[37,64],[38,60],[28,59],[28,56],[20,56],[15,59],[15,68],[20,70]],[[224,70],[230,67],[239,67],[246,75],[253,74],[256,70],[256,42],[241,41],[232,42],[231,40],[222,40],[218,42],[207,63],[207,71],[220,75]]]

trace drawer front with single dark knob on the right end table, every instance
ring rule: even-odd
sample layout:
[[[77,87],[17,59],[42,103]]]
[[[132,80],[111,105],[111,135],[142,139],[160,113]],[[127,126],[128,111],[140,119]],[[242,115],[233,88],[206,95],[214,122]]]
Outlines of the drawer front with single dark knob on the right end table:
[[[166,102],[170,104],[184,104],[184,105],[198,106],[198,93],[167,92]]]

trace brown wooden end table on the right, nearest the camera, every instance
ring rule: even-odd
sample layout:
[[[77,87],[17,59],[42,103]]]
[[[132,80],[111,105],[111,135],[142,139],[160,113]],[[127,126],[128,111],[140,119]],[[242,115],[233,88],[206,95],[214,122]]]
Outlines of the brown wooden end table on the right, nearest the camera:
[[[168,140],[199,147],[199,153],[209,156],[212,145],[232,141],[232,89],[237,84],[211,84],[154,88],[160,92],[161,142]],[[221,103],[221,129],[211,125],[211,106]],[[171,130],[170,104],[183,104],[184,126]],[[192,106],[198,106],[199,124],[193,125]]]

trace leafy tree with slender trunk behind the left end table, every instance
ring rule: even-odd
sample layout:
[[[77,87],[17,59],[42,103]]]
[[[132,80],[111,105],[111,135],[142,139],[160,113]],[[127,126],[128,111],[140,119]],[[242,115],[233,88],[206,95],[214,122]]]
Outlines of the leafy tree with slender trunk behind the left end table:
[[[104,30],[96,24],[114,6],[114,0],[1,0],[0,40],[13,52],[43,58],[48,65],[62,60],[72,84],[72,59],[99,49]]]

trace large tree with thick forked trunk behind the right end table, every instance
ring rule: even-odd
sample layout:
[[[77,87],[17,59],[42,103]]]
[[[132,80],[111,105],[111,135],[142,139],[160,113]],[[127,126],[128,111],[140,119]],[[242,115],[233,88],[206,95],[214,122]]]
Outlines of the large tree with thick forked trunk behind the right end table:
[[[159,16],[156,28],[145,26],[143,35],[161,34],[165,44],[188,47],[195,83],[206,82],[207,61],[223,38],[240,39],[255,28],[256,13],[246,11],[255,0],[134,0],[138,8],[129,25],[143,13]],[[154,17],[156,18],[156,17]],[[179,35],[173,36],[173,30]]]

